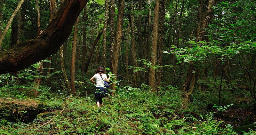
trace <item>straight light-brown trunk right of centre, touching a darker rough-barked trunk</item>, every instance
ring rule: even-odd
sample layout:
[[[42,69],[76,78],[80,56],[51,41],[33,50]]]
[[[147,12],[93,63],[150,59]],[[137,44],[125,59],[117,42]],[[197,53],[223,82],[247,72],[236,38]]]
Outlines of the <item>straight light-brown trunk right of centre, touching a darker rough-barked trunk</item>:
[[[153,20],[153,32],[152,32],[152,50],[151,50],[151,66],[156,66],[156,52],[157,52],[157,41],[158,41],[158,18],[159,18],[159,4],[160,0],[156,0],[154,8],[154,20]],[[149,70],[149,86],[151,87],[150,91],[155,91],[155,78],[156,69],[150,68]]]

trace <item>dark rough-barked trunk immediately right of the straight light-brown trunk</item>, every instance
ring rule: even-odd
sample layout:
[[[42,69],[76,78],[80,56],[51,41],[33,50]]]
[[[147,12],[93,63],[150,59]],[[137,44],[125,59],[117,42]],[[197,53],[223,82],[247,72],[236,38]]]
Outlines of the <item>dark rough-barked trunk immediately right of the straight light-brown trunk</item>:
[[[163,59],[163,45],[164,45],[164,20],[165,20],[165,0],[161,0],[160,7],[159,7],[159,28],[158,28],[158,44],[157,44],[157,65],[162,66],[162,59]],[[162,80],[162,73],[163,69],[159,69],[156,73],[156,87],[157,91],[158,88],[161,86]]]

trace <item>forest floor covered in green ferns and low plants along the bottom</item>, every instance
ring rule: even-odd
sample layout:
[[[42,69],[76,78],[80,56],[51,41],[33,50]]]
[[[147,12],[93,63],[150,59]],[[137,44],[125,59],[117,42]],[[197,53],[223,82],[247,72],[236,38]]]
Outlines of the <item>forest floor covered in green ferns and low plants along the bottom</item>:
[[[217,100],[204,100],[211,92],[216,93],[195,92],[189,109],[184,109],[180,91],[174,87],[158,95],[144,88],[122,87],[116,96],[104,98],[99,108],[93,94],[49,97],[44,93],[46,98],[38,98],[44,102],[44,111],[31,121],[20,117],[28,114],[22,111],[15,122],[1,119],[0,134],[256,134],[255,125],[247,127],[247,132],[234,131],[245,121],[253,125],[256,118],[237,100],[230,100],[233,106],[207,108]]]

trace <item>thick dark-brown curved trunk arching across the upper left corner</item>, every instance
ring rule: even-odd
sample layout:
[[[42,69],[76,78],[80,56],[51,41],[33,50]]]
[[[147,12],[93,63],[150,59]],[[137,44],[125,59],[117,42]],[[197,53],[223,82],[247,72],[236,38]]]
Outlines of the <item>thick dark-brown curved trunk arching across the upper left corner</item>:
[[[78,15],[88,0],[69,0],[36,39],[0,51],[0,74],[13,73],[55,54],[67,40]]]

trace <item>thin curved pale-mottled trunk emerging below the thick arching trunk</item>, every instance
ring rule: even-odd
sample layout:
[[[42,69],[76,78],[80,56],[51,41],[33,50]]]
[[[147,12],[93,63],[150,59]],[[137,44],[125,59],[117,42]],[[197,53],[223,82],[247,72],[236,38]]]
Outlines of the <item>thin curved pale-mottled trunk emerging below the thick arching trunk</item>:
[[[64,65],[63,45],[60,46],[60,51],[59,52],[60,52],[60,69],[62,71],[62,77],[64,79],[64,83],[65,83],[65,86],[68,89],[69,94],[71,94],[72,93],[70,91],[71,87],[70,87],[70,84],[68,82],[68,77],[67,77],[66,69],[65,69],[65,65]]]

